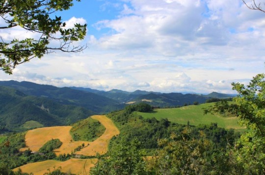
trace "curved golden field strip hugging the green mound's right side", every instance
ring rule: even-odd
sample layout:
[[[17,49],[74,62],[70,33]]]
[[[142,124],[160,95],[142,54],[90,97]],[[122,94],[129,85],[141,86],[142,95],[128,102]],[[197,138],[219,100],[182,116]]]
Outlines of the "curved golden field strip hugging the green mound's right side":
[[[91,117],[93,119],[99,120],[100,123],[106,128],[106,130],[102,136],[100,136],[95,141],[90,142],[89,146],[83,148],[79,152],[76,152],[77,154],[82,154],[82,155],[96,155],[97,153],[105,154],[107,152],[107,147],[110,139],[113,136],[118,135],[120,133],[120,131],[114,125],[112,120],[107,118],[105,115],[93,115]]]

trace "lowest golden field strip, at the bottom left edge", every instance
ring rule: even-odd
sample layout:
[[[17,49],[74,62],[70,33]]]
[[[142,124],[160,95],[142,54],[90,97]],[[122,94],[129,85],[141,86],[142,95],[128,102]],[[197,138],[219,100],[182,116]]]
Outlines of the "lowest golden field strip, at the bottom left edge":
[[[21,167],[15,168],[14,171],[17,171],[19,168],[23,172],[33,173],[34,175],[43,175],[46,172],[49,172],[47,169],[50,169],[52,172],[58,167],[61,167],[61,171],[69,174],[76,175],[85,175],[89,174],[90,168],[94,166],[97,162],[97,159],[76,159],[71,158],[64,162],[57,160],[46,160],[42,162],[35,162],[23,165]]]

